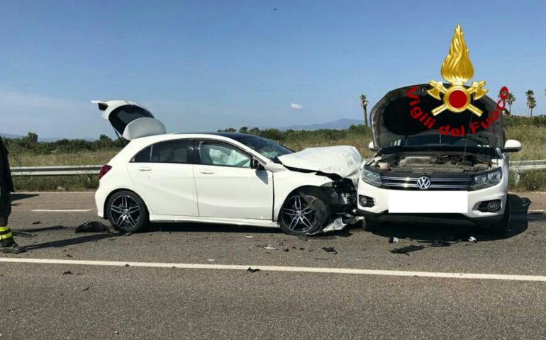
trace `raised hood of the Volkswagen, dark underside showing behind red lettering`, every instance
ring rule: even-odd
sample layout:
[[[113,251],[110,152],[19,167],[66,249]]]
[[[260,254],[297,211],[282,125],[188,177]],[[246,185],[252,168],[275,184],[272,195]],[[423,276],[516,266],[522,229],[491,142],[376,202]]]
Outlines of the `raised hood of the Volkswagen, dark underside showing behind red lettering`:
[[[450,84],[444,84],[446,88],[450,87]],[[415,89],[413,89],[415,87]],[[466,86],[468,87],[468,86]],[[413,89],[413,91],[412,91]],[[372,133],[374,140],[374,147],[382,148],[394,145],[404,145],[403,140],[405,137],[416,135],[428,135],[428,138],[424,138],[430,142],[431,138],[438,136],[438,142],[443,143],[449,140],[450,137],[445,137],[444,141],[441,138],[445,135],[440,135],[440,132],[445,132],[447,125],[449,130],[453,128],[461,129],[464,127],[465,134],[471,139],[480,140],[483,144],[490,147],[503,147],[503,115],[498,114],[498,119],[492,121],[487,127],[488,122],[491,122],[491,113],[496,111],[496,102],[488,96],[483,96],[478,100],[472,100],[470,103],[483,111],[483,114],[478,117],[474,113],[466,110],[461,113],[452,113],[451,111],[443,111],[442,113],[433,116],[435,120],[430,120],[430,124],[426,126],[419,119],[414,118],[411,115],[411,109],[418,106],[423,113],[428,113],[428,116],[432,116],[431,111],[438,106],[441,106],[443,101],[438,101],[427,93],[427,90],[432,89],[429,84],[419,84],[405,86],[400,89],[389,91],[381,100],[372,108],[370,113],[370,119],[372,121]],[[413,96],[418,96],[418,103],[415,104],[416,98],[408,96],[408,91]],[[411,103],[414,106],[411,106]],[[427,116],[427,118],[428,118]],[[474,124],[474,127],[478,127],[474,134],[469,134],[469,125]],[[484,123],[484,125],[482,125]],[[430,128],[429,128],[430,127]],[[440,130],[440,128],[444,129]],[[412,147],[419,147],[418,139],[413,140],[417,144],[412,144]],[[439,144],[441,145],[441,144]]]

